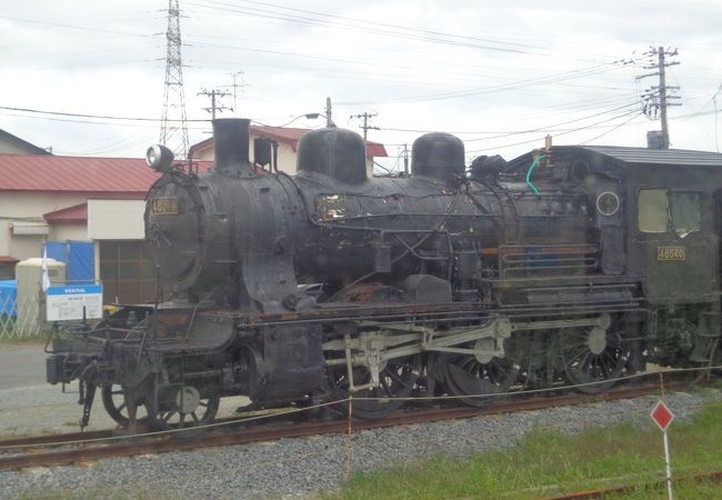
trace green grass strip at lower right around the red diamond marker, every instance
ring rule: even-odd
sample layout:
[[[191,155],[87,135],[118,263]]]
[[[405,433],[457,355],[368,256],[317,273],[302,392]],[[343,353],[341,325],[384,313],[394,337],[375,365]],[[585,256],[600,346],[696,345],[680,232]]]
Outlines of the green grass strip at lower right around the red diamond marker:
[[[672,471],[722,469],[722,402],[708,403],[689,423],[670,428]],[[662,436],[650,424],[593,428],[575,436],[537,429],[518,446],[461,460],[444,454],[392,470],[355,474],[323,499],[532,499],[663,478]],[[661,489],[660,489],[661,488]],[[678,498],[722,499],[722,486],[680,482]],[[614,498],[664,498],[665,487],[641,488]]]

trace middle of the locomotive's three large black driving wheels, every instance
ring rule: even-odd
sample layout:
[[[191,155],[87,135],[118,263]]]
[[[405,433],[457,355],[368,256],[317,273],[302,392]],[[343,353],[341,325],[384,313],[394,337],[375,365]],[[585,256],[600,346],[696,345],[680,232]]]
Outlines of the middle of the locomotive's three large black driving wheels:
[[[493,348],[492,342],[492,339],[479,339],[464,346],[468,349],[478,349],[480,353],[442,354],[437,358],[441,363],[447,389],[451,394],[461,397],[465,404],[488,404],[490,398],[487,396],[509,391],[519,377],[520,368],[513,359],[488,353]],[[509,340],[504,343],[508,342]],[[482,349],[484,347],[485,349]]]

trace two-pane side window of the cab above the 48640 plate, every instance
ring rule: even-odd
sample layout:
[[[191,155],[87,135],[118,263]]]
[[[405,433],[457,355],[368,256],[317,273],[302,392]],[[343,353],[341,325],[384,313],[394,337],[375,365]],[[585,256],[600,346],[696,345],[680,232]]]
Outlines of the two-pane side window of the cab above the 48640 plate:
[[[638,224],[642,232],[674,231],[684,237],[701,229],[700,193],[642,189],[638,208]]]

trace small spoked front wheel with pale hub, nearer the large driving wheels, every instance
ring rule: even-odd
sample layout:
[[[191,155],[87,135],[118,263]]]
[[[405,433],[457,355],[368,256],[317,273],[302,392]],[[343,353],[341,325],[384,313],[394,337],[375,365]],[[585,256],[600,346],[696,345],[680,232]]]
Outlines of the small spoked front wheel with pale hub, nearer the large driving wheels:
[[[210,423],[221,402],[218,381],[192,377],[192,364],[184,367],[184,377],[178,367],[169,370],[168,383],[156,381],[147,397],[148,416],[158,430],[190,428]]]

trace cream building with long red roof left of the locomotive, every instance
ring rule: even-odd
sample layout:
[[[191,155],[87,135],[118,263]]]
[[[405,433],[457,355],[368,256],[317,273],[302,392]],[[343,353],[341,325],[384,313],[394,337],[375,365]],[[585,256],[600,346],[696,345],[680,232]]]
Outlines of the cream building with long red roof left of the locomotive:
[[[108,302],[152,299],[143,212],[158,177],[141,158],[0,154],[0,262],[41,257],[44,241],[92,241]]]

